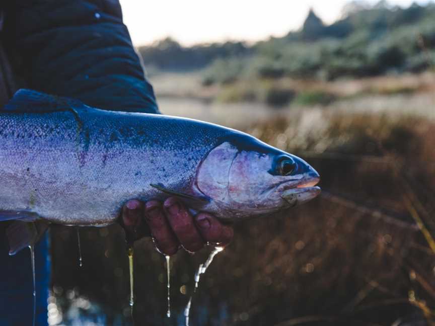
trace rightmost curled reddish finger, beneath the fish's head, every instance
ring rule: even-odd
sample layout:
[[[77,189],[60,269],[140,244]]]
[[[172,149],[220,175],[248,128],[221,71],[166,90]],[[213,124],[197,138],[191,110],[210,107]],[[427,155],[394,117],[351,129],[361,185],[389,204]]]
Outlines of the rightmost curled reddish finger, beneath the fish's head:
[[[222,224],[213,215],[199,213],[195,216],[195,223],[206,242],[227,246],[233,239],[234,231],[231,225]]]

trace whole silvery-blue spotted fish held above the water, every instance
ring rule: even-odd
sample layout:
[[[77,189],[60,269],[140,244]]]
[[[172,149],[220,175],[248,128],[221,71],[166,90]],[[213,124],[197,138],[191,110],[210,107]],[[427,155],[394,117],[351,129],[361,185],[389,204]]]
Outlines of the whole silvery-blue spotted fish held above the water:
[[[0,111],[0,221],[38,222],[40,230],[112,224],[130,199],[169,196],[243,220],[313,199],[319,180],[302,158],[212,123],[26,89]]]

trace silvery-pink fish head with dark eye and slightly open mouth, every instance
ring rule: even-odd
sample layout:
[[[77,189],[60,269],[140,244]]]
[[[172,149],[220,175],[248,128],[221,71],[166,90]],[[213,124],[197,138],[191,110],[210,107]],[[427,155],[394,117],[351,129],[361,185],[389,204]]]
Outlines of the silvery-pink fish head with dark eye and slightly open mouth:
[[[230,215],[249,217],[315,198],[319,180],[302,158],[243,135],[229,137],[207,154],[196,187]]]

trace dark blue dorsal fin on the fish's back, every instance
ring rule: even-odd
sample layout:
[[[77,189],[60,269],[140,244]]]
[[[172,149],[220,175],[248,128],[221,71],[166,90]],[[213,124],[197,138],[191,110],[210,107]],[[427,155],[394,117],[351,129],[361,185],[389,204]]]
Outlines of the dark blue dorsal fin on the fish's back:
[[[15,93],[2,111],[10,113],[47,113],[70,111],[84,107],[86,106],[79,100],[21,89]]]

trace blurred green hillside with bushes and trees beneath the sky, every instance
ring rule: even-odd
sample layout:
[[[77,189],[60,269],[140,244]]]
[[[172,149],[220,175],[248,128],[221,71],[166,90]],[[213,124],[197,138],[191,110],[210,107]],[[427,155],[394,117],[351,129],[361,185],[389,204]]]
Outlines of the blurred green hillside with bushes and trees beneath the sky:
[[[310,11],[299,31],[250,46],[226,42],[183,47],[165,39],[138,50],[148,68],[205,68],[203,82],[209,85],[244,77],[329,80],[420,72],[435,62],[435,4],[402,9],[384,1],[373,7],[353,2],[331,25]]]

